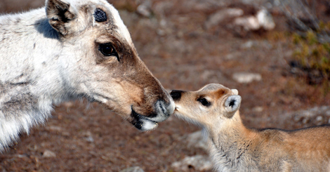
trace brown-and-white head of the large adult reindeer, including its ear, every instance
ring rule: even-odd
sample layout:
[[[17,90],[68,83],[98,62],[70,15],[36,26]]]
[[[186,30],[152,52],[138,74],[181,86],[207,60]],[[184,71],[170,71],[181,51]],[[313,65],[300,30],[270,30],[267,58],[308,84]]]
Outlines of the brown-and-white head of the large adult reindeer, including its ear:
[[[46,15],[62,46],[58,69],[68,94],[101,102],[143,131],[173,113],[171,96],[107,1],[48,0]]]

